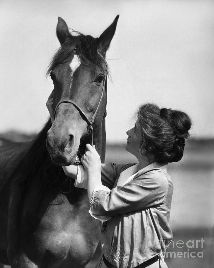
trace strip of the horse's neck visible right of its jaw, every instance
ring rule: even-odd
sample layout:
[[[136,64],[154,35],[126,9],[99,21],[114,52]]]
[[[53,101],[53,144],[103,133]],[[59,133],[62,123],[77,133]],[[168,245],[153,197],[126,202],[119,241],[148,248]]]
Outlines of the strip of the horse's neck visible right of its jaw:
[[[105,146],[106,146],[106,131],[105,131],[105,118],[101,121],[101,124],[94,128],[94,141],[96,150],[100,155],[101,163],[105,161]]]

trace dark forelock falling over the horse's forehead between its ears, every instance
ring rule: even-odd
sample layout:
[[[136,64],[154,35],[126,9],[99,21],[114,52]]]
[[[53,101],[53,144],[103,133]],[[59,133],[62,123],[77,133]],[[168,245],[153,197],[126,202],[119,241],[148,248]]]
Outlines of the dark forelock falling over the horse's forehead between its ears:
[[[76,31],[73,31],[76,32]],[[54,54],[49,64],[48,75],[60,63],[66,62],[71,54],[75,51],[79,59],[86,66],[101,68],[104,72],[108,72],[108,65],[104,57],[97,51],[97,40],[90,35],[83,35],[76,32],[78,35],[70,35],[65,39],[60,49]]]

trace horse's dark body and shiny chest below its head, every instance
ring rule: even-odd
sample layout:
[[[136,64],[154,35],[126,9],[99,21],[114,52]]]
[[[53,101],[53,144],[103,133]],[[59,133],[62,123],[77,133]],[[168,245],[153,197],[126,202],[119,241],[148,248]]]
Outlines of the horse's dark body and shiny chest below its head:
[[[4,145],[16,145],[8,166],[25,154],[19,173],[8,171],[11,180],[5,180],[0,198],[0,261],[12,267],[85,267],[99,239],[87,191],[75,188],[51,162],[44,135],[49,127],[50,122],[33,144]],[[23,180],[26,171],[30,179]]]

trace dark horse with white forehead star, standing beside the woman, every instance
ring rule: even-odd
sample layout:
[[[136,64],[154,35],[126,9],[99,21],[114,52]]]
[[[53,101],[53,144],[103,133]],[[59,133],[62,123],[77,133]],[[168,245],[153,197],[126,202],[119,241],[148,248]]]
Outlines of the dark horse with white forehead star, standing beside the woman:
[[[104,162],[105,55],[118,17],[99,38],[70,33],[65,21],[58,18],[61,46],[47,72],[54,84],[54,122],[49,119],[29,142],[0,139],[2,264],[81,268],[93,256],[100,222],[88,212],[87,190],[75,188],[61,166],[75,164],[92,136]]]

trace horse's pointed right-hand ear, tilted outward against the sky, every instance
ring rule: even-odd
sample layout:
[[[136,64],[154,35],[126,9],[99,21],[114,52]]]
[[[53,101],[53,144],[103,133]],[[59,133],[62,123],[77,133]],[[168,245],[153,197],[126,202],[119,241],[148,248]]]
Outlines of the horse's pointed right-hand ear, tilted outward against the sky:
[[[116,16],[113,23],[107,29],[105,29],[97,40],[97,49],[104,57],[115,34],[118,18],[119,15]]]

